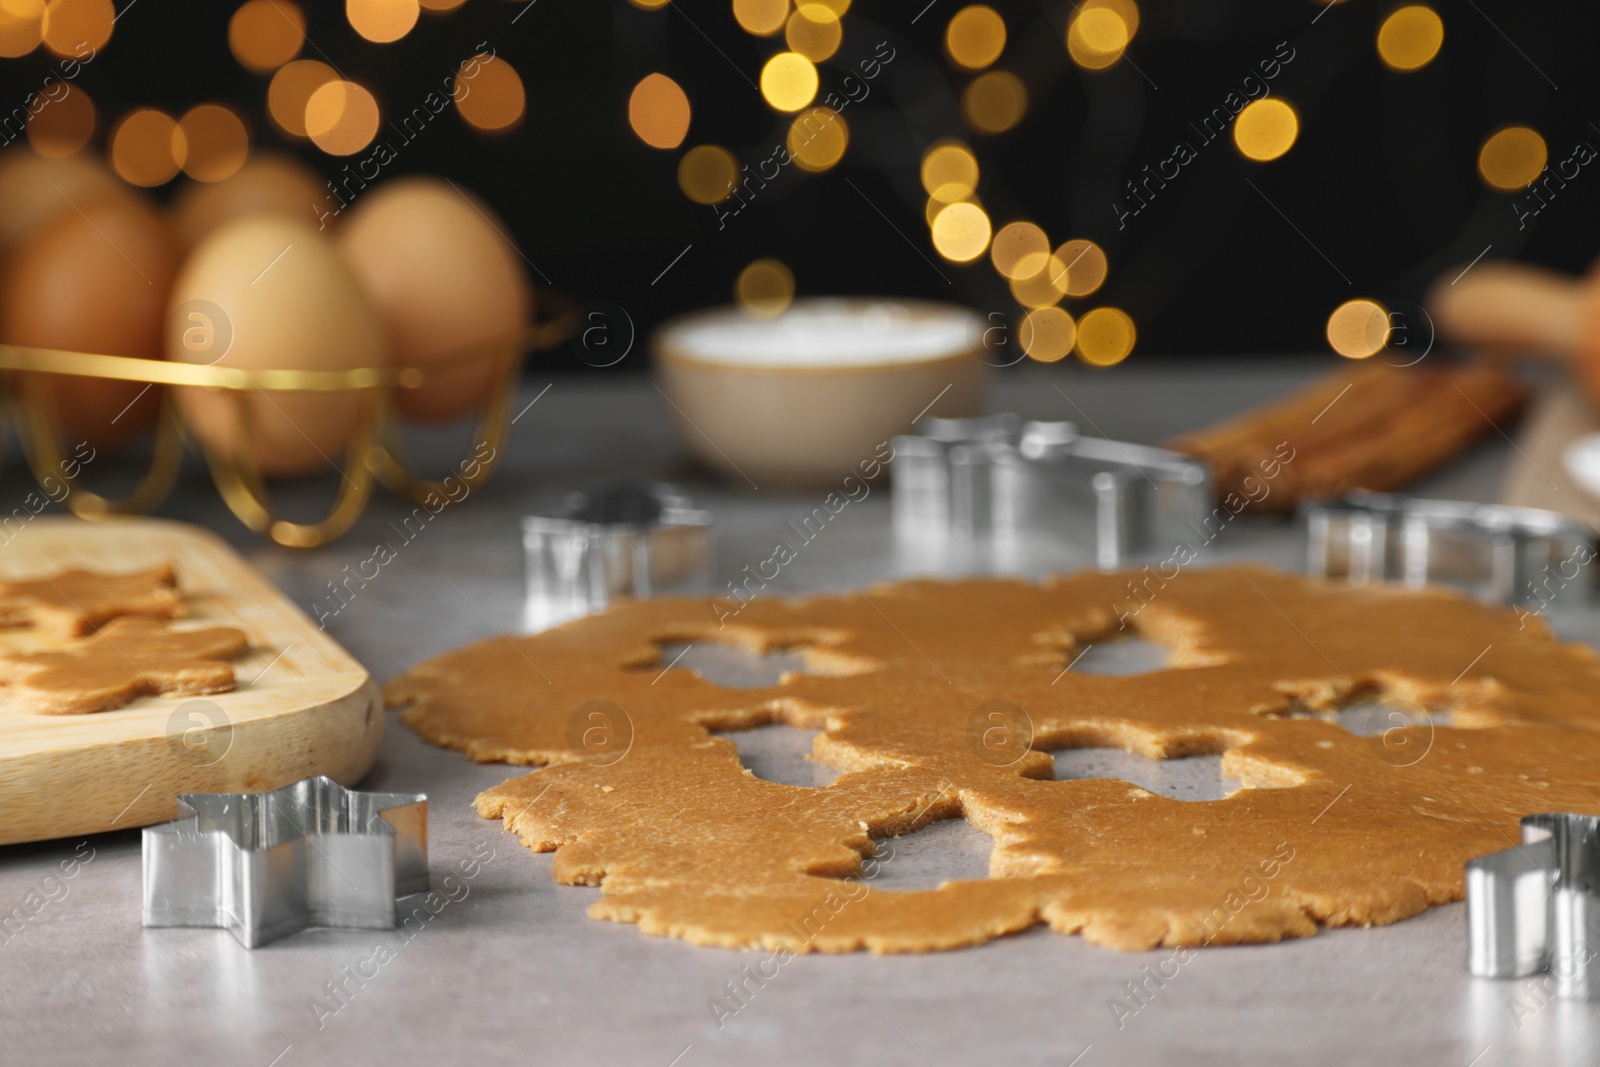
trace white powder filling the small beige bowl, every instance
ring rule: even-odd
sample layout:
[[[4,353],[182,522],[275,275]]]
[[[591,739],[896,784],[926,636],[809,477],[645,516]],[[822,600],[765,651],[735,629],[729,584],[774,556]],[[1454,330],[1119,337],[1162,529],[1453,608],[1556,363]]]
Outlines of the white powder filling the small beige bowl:
[[[685,318],[661,341],[675,355],[730,366],[923,363],[982,347],[984,322],[954,304],[814,298],[778,318],[734,307]]]

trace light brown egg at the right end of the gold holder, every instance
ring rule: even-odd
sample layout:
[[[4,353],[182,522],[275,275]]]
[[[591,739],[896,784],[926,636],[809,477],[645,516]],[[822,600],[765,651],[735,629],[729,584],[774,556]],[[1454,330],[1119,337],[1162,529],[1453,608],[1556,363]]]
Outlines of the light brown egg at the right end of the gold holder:
[[[355,203],[336,240],[398,366],[448,366],[528,325],[533,286],[507,234],[477,197],[438,178],[400,178]],[[478,408],[493,386],[494,360],[477,360],[395,398],[402,414],[443,422]]]

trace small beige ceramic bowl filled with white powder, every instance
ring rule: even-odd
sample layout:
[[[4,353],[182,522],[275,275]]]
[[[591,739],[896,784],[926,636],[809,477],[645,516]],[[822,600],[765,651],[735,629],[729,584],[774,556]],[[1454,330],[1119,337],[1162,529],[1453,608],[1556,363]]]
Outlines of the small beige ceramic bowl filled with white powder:
[[[984,328],[958,304],[808,298],[770,320],[683,315],[651,355],[696,456],[741,485],[829,485],[882,462],[914,421],[982,408]]]

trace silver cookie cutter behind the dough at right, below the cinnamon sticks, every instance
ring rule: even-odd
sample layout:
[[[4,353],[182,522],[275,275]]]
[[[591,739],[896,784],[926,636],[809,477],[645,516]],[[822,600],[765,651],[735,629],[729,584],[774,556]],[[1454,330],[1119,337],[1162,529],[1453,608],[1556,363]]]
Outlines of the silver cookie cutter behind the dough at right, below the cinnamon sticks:
[[[1594,533],[1560,512],[1355,491],[1302,517],[1315,577],[1446,582],[1499,603],[1546,601],[1574,582],[1586,597],[1590,585],[1578,579]]]

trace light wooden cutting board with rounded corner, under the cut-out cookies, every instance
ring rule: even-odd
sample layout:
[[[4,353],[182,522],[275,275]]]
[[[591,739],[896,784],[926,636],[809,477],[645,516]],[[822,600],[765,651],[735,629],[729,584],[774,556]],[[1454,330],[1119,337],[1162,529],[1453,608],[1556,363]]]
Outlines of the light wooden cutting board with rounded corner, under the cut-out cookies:
[[[373,765],[384,710],[371,677],[216,536],[155,518],[32,518],[5,537],[6,579],[170,561],[189,605],[173,627],[232,625],[250,651],[234,662],[234,693],[141,697],[114,712],[34,715],[0,688],[0,845],[163,822],[179,793],[314,774],[354,785]],[[0,630],[5,649],[38,640]]]

